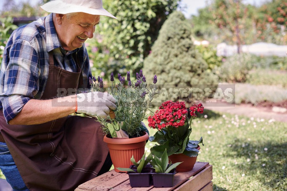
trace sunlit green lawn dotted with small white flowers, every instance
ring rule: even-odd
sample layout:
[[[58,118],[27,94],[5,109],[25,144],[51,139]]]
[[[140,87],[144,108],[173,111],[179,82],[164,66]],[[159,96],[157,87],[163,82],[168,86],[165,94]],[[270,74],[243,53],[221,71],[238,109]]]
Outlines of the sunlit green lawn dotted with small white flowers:
[[[193,121],[191,139],[201,136],[197,161],[213,165],[214,190],[287,190],[287,123],[206,110]]]

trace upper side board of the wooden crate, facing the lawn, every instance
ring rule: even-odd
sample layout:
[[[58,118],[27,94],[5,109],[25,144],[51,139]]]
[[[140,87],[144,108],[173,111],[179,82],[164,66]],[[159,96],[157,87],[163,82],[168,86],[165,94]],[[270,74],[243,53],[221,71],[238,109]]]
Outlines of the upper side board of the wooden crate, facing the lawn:
[[[212,180],[212,165],[208,165],[203,171],[192,177],[182,184],[176,190],[180,191],[197,191],[207,185]]]

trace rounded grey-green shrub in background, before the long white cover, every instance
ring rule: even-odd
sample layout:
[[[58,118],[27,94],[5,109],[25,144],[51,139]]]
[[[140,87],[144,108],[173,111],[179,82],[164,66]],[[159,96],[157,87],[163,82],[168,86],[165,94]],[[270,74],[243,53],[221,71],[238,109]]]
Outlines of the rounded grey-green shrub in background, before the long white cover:
[[[221,80],[228,83],[245,82],[252,68],[250,60],[250,54],[235,54],[228,57],[219,68]]]

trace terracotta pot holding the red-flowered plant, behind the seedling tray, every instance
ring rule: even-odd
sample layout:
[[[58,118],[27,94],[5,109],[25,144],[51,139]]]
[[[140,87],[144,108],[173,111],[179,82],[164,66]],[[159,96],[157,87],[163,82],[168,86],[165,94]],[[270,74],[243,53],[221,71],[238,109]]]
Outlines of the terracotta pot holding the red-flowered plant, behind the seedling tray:
[[[197,150],[200,149],[200,146],[196,148]],[[173,154],[169,156],[169,159],[171,160],[171,163],[177,163],[177,162],[182,162],[176,167],[177,172],[187,172],[191,171],[193,169],[193,166],[196,162],[197,156],[196,157],[189,157],[184,154]]]

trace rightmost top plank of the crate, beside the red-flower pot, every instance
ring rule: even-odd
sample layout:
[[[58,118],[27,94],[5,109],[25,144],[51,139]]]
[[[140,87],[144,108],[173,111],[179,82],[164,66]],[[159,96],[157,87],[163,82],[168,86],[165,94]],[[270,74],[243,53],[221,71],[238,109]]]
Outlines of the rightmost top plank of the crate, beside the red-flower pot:
[[[191,176],[195,176],[200,171],[202,171],[204,168],[206,168],[209,165],[209,163],[206,162],[196,162],[193,169],[188,172],[178,172],[174,175],[173,180],[173,187],[170,188],[153,188],[151,191],[167,191],[167,190],[174,190],[176,187],[184,183],[186,180],[188,180]],[[210,181],[210,180],[209,180]],[[208,181],[208,182],[209,182]],[[205,184],[204,184],[205,185]]]

